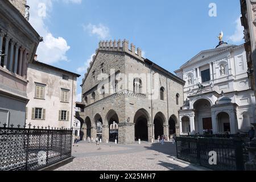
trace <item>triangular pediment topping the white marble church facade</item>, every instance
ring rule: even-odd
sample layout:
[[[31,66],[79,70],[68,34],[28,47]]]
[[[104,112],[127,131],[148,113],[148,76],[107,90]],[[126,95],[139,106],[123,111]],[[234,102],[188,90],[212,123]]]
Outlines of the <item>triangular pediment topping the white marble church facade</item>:
[[[187,67],[188,65],[195,64],[198,61],[201,61],[202,59],[207,59],[207,58],[212,57],[214,55],[217,56],[219,53],[224,52],[227,49],[232,48],[232,47],[236,47],[236,46],[230,45],[230,46],[226,46],[226,47],[208,49],[208,50],[205,50],[205,51],[201,51],[196,56],[192,57],[191,60],[187,61],[187,63],[183,64],[180,68],[184,68],[184,67]]]

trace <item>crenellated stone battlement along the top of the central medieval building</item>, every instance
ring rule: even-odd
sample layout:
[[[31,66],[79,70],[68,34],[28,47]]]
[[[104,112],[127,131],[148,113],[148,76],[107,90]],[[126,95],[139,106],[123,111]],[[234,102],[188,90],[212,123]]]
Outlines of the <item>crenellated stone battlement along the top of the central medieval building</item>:
[[[114,40],[106,40],[106,41],[100,41],[98,43],[98,50],[104,50],[104,51],[124,51],[127,53],[130,53],[131,55],[138,57],[139,59],[142,59],[142,52],[141,48],[137,48],[134,46],[133,43],[130,44],[129,49],[129,41],[124,39],[121,41],[120,39],[118,41]]]

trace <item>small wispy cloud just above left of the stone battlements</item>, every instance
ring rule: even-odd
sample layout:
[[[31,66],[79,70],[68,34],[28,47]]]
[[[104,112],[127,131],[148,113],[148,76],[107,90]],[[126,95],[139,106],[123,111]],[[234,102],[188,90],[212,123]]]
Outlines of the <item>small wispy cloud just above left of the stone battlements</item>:
[[[88,24],[87,26],[83,26],[85,31],[88,31],[89,34],[97,35],[99,39],[106,39],[109,38],[109,28],[104,26],[103,24]]]

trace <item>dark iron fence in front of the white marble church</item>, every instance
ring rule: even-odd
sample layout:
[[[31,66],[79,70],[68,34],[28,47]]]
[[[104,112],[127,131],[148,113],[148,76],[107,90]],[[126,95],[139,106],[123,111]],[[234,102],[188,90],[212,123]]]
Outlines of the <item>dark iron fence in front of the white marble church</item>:
[[[215,171],[242,171],[247,160],[241,137],[177,137],[176,147],[178,159]],[[210,152],[216,154],[216,164],[209,162]]]

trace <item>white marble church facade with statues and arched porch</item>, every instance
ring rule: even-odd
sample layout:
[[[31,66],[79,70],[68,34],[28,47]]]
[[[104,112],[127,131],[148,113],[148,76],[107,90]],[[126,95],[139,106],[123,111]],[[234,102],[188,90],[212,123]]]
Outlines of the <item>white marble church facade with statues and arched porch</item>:
[[[180,133],[245,133],[254,122],[255,96],[244,45],[224,42],[201,51],[176,75],[186,81],[179,111]]]

